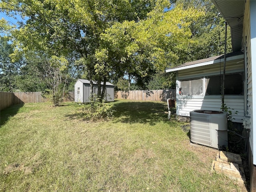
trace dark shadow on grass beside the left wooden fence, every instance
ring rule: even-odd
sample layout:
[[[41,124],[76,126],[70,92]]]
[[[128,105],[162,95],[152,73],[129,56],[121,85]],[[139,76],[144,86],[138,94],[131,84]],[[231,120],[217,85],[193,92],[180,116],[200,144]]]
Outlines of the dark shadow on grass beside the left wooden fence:
[[[24,106],[24,103],[22,104],[15,104],[12,105],[4,110],[1,110],[0,112],[0,126],[6,124],[8,122],[9,118],[16,115],[20,108]]]

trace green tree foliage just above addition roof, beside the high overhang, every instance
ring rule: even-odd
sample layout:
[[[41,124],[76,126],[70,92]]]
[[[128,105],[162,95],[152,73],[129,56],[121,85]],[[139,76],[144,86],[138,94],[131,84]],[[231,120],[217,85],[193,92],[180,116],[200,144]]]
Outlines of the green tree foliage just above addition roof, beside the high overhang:
[[[205,14],[191,22],[191,39],[197,43],[179,50],[180,60],[177,64],[224,54],[225,23],[224,19],[218,16],[219,11],[211,0],[177,0],[176,6],[180,4],[183,4],[184,9],[193,7]],[[230,28],[227,45],[227,52],[231,52]]]

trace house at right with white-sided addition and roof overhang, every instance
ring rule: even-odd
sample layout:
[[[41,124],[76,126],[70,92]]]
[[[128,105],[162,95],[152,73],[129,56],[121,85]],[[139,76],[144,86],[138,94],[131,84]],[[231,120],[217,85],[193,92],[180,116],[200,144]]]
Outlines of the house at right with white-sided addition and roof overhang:
[[[228,90],[225,90],[225,103],[234,108],[233,112],[238,111],[233,113],[232,121],[243,122],[249,132],[250,191],[253,192],[256,191],[256,1],[212,2],[230,26],[233,52],[242,52],[226,58],[225,88]],[[217,66],[222,67],[223,62],[224,59],[217,56],[166,70],[177,74],[178,116],[188,117],[192,109],[220,107],[217,93],[221,71],[220,68],[217,71]],[[238,86],[233,87],[232,84],[236,83]]]

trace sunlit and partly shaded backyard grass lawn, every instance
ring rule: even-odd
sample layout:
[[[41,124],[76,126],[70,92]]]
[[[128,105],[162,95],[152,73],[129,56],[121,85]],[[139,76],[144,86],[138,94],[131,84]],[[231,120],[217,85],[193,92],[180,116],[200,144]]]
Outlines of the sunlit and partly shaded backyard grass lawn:
[[[217,150],[190,145],[165,102],[112,104],[104,122],[83,121],[72,102],[2,110],[0,191],[246,191],[210,173]]]

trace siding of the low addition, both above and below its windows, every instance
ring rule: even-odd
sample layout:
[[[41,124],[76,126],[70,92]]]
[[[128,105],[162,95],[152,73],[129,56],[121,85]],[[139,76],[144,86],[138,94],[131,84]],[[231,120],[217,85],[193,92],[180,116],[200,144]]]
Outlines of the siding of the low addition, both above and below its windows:
[[[243,58],[232,60],[226,63],[226,74],[244,72]],[[179,93],[180,81],[189,80],[193,78],[204,78],[206,76],[214,76],[223,74],[223,62],[211,64],[207,66],[200,66],[186,70],[179,70],[176,73],[176,92]],[[245,87],[244,82],[244,87]],[[203,87],[206,88],[205,79]],[[204,90],[205,92],[205,90]],[[190,116],[193,110],[221,110],[222,106],[221,95],[204,95],[204,96],[176,96],[176,114],[178,116]],[[224,100],[228,110],[232,112],[232,121],[242,123],[245,114],[244,96],[225,95]]]

